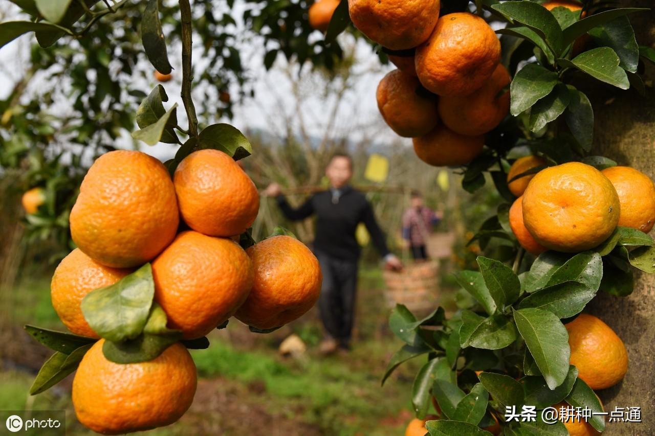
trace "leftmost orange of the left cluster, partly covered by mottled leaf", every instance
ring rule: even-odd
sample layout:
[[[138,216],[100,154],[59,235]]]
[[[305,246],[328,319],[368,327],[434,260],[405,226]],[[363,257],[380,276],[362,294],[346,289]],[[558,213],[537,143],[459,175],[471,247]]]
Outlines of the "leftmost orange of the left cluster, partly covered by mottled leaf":
[[[75,335],[98,338],[84,319],[80,303],[94,289],[113,285],[130,272],[101,265],[76,248],[54,270],[50,283],[52,307]]]

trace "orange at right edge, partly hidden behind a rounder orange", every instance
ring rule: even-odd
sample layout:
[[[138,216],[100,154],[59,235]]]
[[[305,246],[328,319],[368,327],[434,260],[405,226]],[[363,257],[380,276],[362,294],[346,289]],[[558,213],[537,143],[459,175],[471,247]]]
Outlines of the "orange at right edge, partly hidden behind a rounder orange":
[[[650,177],[629,166],[613,166],[602,173],[621,202],[618,225],[650,232],[655,224],[655,185]]]

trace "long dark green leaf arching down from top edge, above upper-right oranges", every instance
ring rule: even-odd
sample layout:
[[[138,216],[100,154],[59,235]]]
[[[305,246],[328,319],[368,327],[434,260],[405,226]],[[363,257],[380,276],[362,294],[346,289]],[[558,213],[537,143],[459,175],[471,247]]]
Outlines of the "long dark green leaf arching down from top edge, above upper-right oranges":
[[[565,47],[562,43],[562,29],[559,23],[546,8],[530,1],[506,1],[493,5],[492,9],[497,10],[510,20],[525,24],[533,29],[540,37],[544,38],[553,53],[559,55]]]

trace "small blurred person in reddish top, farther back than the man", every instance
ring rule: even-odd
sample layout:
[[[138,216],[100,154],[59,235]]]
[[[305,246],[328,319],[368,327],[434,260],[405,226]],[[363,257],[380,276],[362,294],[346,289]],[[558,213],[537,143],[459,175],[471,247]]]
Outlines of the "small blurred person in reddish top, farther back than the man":
[[[441,220],[441,212],[424,206],[421,192],[412,191],[410,208],[403,213],[403,239],[409,245],[412,257],[417,261],[428,259],[428,238]]]

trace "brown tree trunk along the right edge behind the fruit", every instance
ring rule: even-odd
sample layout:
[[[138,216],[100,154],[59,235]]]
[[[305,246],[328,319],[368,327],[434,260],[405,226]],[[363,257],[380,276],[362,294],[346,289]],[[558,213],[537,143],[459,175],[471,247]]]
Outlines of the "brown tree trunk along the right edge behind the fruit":
[[[652,7],[652,0],[622,0],[620,7]],[[655,12],[632,14],[639,44],[655,46]],[[646,96],[599,86],[586,89],[595,114],[594,152],[655,179],[655,68],[646,65]],[[655,275],[635,273],[629,297],[599,293],[589,306],[626,343],[629,369],[624,380],[599,391],[605,410],[641,407],[641,423],[607,424],[603,435],[655,435]]]

